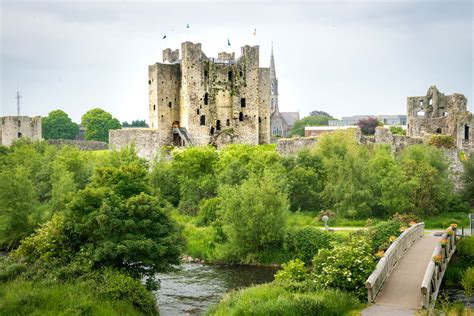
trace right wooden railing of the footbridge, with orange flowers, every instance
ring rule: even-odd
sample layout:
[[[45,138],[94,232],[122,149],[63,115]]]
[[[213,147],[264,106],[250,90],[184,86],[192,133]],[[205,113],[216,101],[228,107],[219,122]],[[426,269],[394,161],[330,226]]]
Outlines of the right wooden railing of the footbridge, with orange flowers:
[[[433,257],[426,268],[423,282],[421,283],[421,293],[423,294],[423,308],[428,309],[430,304],[438,297],[441,281],[444,272],[448,267],[449,260],[456,251],[456,228],[449,227],[442,235],[441,241],[433,251]]]

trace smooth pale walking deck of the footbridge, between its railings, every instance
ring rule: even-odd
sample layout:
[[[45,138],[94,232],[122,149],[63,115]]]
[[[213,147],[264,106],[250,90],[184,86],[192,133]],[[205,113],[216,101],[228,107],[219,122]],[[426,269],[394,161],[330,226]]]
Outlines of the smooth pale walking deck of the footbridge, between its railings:
[[[375,300],[375,306],[364,310],[362,315],[375,315],[372,314],[373,312],[378,314],[380,312],[378,309],[383,306],[387,306],[387,309],[390,307],[402,310],[420,309],[423,303],[421,283],[439,240],[440,237],[431,234],[423,236],[413,244],[385,280]],[[398,312],[400,313],[401,310]],[[388,312],[387,315],[392,313]],[[395,312],[393,315],[402,315],[399,313]]]

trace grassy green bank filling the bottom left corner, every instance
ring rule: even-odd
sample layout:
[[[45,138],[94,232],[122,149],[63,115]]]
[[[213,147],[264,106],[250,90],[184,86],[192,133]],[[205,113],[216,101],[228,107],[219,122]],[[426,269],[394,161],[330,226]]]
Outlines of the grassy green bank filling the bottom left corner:
[[[141,315],[131,304],[104,300],[85,282],[0,284],[0,315]]]

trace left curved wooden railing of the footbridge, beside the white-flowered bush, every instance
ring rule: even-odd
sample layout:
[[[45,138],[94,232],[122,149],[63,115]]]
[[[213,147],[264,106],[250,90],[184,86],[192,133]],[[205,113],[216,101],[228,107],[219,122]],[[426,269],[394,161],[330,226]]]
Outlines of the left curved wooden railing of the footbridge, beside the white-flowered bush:
[[[375,301],[375,297],[382,288],[383,282],[392,272],[393,267],[403,256],[405,251],[413,245],[415,241],[423,237],[425,223],[418,223],[405,230],[390,245],[382,259],[379,260],[375,270],[370,274],[365,287],[367,288],[369,303]]]

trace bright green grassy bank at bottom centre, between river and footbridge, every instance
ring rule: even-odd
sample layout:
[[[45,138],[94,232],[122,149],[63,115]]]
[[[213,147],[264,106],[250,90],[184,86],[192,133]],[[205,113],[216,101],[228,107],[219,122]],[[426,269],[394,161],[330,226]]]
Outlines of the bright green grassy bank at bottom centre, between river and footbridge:
[[[361,308],[349,293],[336,290],[293,293],[274,284],[231,292],[208,315],[349,315]]]

